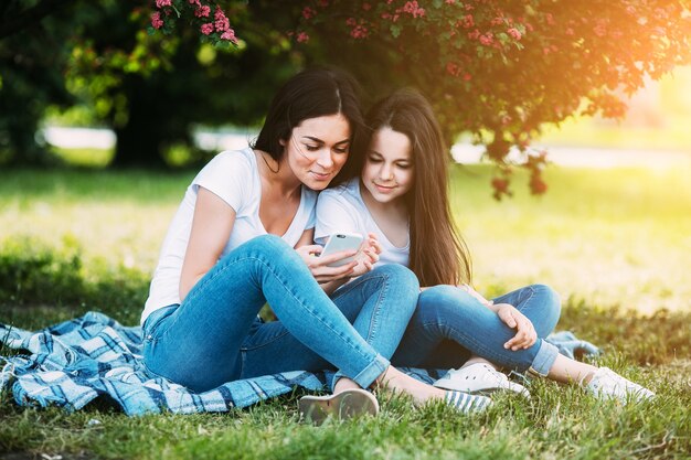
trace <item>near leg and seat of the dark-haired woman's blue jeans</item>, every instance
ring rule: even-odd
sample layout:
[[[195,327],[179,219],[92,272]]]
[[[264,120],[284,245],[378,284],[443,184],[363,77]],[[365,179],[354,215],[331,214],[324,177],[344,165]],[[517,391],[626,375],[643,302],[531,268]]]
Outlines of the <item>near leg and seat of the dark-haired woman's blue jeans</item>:
[[[266,302],[280,327],[301,343],[300,350],[283,346],[274,339],[285,336],[284,330],[257,320]],[[357,309],[354,303],[347,307]],[[413,309],[403,315],[410,317]],[[308,367],[323,360],[368,387],[389,366],[321,290],[297,253],[273,235],[256,237],[223,257],[180,306],[151,313],[143,333],[149,372],[195,392],[251,375],[317,370]],[[256,346],[265,342],[269,346]]]

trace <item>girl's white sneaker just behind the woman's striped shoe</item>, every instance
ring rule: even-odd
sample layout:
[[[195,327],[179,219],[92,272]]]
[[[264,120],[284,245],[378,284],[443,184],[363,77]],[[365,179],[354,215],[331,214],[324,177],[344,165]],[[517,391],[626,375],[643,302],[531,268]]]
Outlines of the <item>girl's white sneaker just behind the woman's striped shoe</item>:
[[[456,392],[470,394],[508,389],[530,398],[530,393],[523,385],[509,381],[509,377],[486,363],[476,363],[461,368],[453,368],[433,385],[437,388],[454,389]]]

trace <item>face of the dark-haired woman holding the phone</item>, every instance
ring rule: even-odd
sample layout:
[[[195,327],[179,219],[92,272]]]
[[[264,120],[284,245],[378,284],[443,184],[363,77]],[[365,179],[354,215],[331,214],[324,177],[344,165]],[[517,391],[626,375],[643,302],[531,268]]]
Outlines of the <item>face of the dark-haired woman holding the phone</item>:
[[[296,178],[312,190],[323,190],[348,160],[350,124],[341,114],[308,118],[280,145]]]

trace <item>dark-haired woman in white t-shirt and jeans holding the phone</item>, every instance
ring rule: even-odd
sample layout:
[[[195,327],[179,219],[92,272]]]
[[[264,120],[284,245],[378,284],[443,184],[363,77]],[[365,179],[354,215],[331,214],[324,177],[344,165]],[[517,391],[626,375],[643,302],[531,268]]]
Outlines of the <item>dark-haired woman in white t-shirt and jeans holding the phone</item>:
[[[302,409],[344,417],[376,413],[376,399],[360,388],[417,388],[346,318],[391,324],[393,332],[373,340],[391,357],[415,308],[415,277],[395,267],[368,272],[375,244],[364,258],[341,267],[329,264],[352,254],[319,258],[320,246],[311,245],[315,191],[339,174],[361,125],[349,77],[304,72],[272,101],[254,148],[222,152],[196,175],[168,231],[141,315],[149,372],[204,392],[237,378],[331,363],[346,378],[332,397],[308,398]],[[332,289],[350,276],[363,282],[334,304],[322,287]],[[400,293],[396,308],[393,299],[381,298],[382,290]],[[265,302],[279,321],[257,319]],[[294,338],[300,346],[287,346]],[[428,388],[419,398],[487,404]]]

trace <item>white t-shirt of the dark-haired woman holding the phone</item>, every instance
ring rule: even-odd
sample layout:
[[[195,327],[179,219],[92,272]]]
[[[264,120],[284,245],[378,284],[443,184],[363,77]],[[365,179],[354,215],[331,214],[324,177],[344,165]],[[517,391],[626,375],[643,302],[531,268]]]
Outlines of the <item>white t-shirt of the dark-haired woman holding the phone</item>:
[[[219,153],[196,174],[168,228],[149,298],[141,313],[142,324],[151,312],[180,303],[180,275],[200,186],[211,191],[235,210],[233,231],[221,257],[255,236],[267,234],[259,220],[262,179],[254,151],[246,148]],[[281,236],[290,246],[298,243],[306,229],[315,226],[316,203],[317,192],[302,186],[298,211]]]

